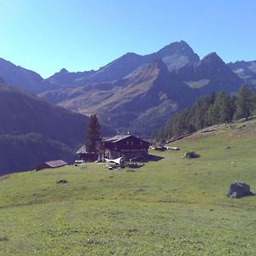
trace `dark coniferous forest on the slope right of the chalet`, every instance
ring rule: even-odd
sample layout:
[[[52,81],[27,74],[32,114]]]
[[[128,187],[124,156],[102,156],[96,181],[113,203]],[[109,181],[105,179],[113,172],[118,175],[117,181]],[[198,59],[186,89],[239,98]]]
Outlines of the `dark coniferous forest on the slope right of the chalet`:
[[[189,134],[207,126],[247,119],[255,113],[256,94],[246,85],[242,85],[237,95],[218,92],[201,97],[192,108],[174,114],[165,126],[154,131],[152,137],[163,143],[172,137]]]

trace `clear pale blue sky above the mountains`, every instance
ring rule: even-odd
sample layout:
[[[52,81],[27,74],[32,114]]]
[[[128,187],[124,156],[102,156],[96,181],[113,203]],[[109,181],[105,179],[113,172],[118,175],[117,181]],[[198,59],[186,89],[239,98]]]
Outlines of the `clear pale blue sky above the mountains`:
[[[203,57],[256,60],[254,0],[0,0],[0,57],[43,78],[184,40]]]

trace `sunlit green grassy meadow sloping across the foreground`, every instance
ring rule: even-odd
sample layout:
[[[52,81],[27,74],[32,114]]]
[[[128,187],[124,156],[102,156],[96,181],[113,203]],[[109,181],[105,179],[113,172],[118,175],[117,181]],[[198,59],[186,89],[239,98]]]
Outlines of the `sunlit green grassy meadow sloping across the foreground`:
[[[1,178],[0,255],[256,255],[256,196],[225,195],[236,180],[256,192],[246,128],[151,152],[164,159],[135,172],[90,163]],[[201,158],[183,159],[190,149]]]

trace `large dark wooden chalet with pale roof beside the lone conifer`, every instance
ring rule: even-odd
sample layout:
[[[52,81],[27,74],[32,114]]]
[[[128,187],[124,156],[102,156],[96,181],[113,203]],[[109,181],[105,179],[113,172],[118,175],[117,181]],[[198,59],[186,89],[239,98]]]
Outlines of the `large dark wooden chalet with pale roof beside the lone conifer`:
[[[124,160],[133,158],[147,158],[150,143],[133,135],[117,135],[102,139],[99,154],[107,159],[124,157]]]

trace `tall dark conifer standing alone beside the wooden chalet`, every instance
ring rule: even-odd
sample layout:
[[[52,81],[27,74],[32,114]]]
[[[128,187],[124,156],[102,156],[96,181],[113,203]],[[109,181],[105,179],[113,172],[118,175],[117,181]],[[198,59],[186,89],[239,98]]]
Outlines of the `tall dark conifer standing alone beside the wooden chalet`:
[[[98,122],[96,114],[92,114],[89,119],[86,134],[86,150],[88,152],[96,152],[96,143],[101,137],[101,125]]]

